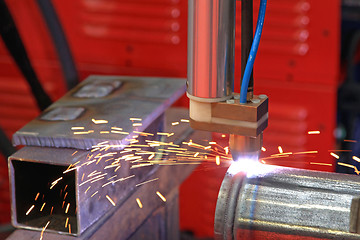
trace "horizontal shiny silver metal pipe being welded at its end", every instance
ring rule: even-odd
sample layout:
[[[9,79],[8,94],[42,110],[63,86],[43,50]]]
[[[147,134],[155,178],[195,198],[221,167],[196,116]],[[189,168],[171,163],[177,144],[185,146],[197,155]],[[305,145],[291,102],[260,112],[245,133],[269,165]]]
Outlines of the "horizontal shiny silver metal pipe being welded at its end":
[[[215,239],[360,239],[359,197],[358,176],[235,162],[219,192]]]

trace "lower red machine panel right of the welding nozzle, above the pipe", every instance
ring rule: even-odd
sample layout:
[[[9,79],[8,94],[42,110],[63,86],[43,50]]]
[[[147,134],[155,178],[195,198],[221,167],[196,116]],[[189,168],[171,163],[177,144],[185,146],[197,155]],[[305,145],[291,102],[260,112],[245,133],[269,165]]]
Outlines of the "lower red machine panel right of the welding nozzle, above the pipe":
[[[289,157],[266,160],[269,164],[320,171],[334,171],[333,149],[336,124],[336,87],[304,83],[258,81],[256,89],[271,99],[269,127],[264,132],[263,157],[278,154],[278,146]],[[286,94],[283,95],[283,92]],[[291,95],[289,95],[291,94]],[[286,96],[284,98],[284,96]],[[309,134],[320,131],[320,134]],[[314,152],[316,151],[316,152]]]

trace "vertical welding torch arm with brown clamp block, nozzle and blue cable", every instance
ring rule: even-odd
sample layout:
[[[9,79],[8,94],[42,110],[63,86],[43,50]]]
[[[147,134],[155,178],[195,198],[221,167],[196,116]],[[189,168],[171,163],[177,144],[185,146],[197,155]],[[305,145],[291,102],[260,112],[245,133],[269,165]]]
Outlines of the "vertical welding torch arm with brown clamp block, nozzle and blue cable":
[[[263,2],[266,6],[266,1]],[[252,7],[247,8],[252,10]],[[235,10],[235,0],[189,0],[187,95],[190,98],[190,125],[199,130],[231,134],[230,149],[234,160],[244,155],[257,159],[262,132],[268,125],[268,98],[266,95],[253,96],[252,85],[245,103],[240,102],[239,94],[233,93]],[[250,63],[244,67],[244,76],[250,72],[249,78],[260,40],[263,22],[260,23],[255,34],[257,42],[254,41],[250,50]],[[245,42],[249,43],[252,30],[247,32],[243,41],[247,39]],[[243,83],[245,95],[249,78],[243,80],[247,82]]]

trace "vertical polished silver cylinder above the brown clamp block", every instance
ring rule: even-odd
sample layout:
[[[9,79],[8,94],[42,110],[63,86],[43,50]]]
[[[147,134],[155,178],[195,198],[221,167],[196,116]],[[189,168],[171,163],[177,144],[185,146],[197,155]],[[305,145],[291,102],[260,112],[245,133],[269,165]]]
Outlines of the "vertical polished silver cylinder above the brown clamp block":
[[[188,95],[221,101],[232,95],[235,0],[189,0]]]

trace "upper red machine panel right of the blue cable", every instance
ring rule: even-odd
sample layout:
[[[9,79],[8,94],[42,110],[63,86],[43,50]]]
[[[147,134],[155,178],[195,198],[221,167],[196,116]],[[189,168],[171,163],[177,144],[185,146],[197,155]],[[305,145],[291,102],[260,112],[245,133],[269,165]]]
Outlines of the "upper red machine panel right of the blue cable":
[[[254,1],[254,28],[259,2]],[[240,13],[240,4],[237,7]],[[236,34],[240,36],[240,14],[237,17]],[[326,11],[324,4],[316,0],[269,1],[255,62],[256,77],[336,84],[340,63],[339,29],[339,0],[327,1]],[[240,46],[240,39],[237,46]],[[240,69],[240,61],[236,64],[235,69]]]

